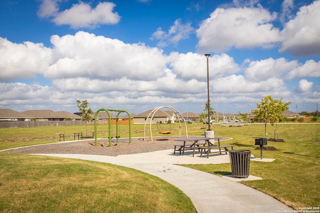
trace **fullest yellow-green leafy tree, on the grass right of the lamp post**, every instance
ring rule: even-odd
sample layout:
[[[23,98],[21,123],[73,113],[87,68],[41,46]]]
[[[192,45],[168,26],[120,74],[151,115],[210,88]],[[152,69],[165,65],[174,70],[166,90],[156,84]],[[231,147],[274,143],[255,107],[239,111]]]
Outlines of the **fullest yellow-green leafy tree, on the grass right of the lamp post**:
[[[283,98],[272,99],[271,96],[267,95],[264,99],[261,99],[261,103],[257,103],[256,106],[258,109],[253,111],[255,119],[264,121],[264,137],[267,137],[266,134],[266,122],[269,121],[271,125],[275,125],[275,138],[277,139],[277,122],[283,120],[282,113],[287,110],[288,105],[291,102],[283,103]]]

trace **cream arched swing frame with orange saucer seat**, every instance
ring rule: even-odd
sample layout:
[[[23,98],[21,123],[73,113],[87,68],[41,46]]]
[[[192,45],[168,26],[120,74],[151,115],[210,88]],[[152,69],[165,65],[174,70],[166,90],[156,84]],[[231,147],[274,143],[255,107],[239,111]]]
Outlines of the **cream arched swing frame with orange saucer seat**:
[[[181,121],[183,121],[183,123],[184,123],[184,126],[185,126],[185,136],[186,136],[186,138],[187,138],[187,137],[188,137],[188,133],[187,133],[187,129],[186,129],[186,123],[185,123],[185,121],[184,121],[183,116],[181,115],[181,113],[180,113],[179,111],[177,111],[177,110],[176,110],[175,108],[173,108],[173,107],[170,107],[170,106],[160,106],[160,107],[157,107],[157,108],[153,109],[153,110],[149,113],[148,117],[145,119],[145,122],[144,122],[144,135],[143,135],[143,140],[145,140],[145,126],[146,126],[146,123],[147,123],[147,121],[148,121],[148,118],[150,118],[150,125],[149,125],[149,127],[150,127],[150,137],[151,137],[151,141],[153,141],[153,140],[152,140],[151,123],[152,123],[152,120],[153,120],[153,117],[154,117],[156,111],[158,111],[158,110],[161,109],[161,108],[168,108],[168,109],[170,109],[170,110],[173,112],[173,114],[172,114],[172,117],[171,117],[171,125],[170,125],[170,127],[169,127],[169,130],[163,131],[163,130],[161,129],[161,131],[159,131],[159,133],[164,134],[164,135],[172,133],[172,129],[170,130],[170,128],[171,128],[172,124],[174,125],[175,119],[177,119],[178,122],[179,122],[179,137],[181,136],[181,122],[180,122],[180,120],[181,120]],[[159,123],[158,123],[157,121],[155,122],[155,124],[156,124],[157,127],[158,127]],[[173,126],[172,126],[172,128],[173,128]],[[159,129],[159,127],[158,127],[158,129]]]

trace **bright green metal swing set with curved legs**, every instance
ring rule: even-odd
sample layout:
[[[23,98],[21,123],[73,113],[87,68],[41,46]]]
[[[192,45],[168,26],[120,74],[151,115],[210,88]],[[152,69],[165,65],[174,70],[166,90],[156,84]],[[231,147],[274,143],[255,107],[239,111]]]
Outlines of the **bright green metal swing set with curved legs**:
[[[119,142],[119,138],[120,138],[120,136],[119,136],[119,126],[118,126],[118,125],[119,125],[119,124],[118,124],[119,114],[120,114],[121,112],[125,112],[126,114],[128,114],[128,116],[129,116],[129,143],[131,143],[131,116],[130,116],[130,114],[129,114],[127,111],[125,111],[125,110],[104,109],[104,108],[101,108],[101,109],[97,110],[97,111],[95,112],[95,114],[94,114],[94,145],[95,145],[95,146],[97,145],[96,116],[97,116],[98,112],[100,112],[100,111],[102,111],[102,110],[108,113],[108,119],[109,119],[109,125],[108,125],[108,128],[109,128],[109,137],[108,137],[108,138],[109,138],[109,147],[111,146],[111,139],[112,139],[112,131],[111,131],[111,126],[110,126],[110,125],[112,125],[112,124],[111,124],[111,114],[110,114],[109,111],[118,112],[118,113],[116,114],[116,125],[115,125],[115,129],[116,129],[116,133],[115,133],[116,143]]]

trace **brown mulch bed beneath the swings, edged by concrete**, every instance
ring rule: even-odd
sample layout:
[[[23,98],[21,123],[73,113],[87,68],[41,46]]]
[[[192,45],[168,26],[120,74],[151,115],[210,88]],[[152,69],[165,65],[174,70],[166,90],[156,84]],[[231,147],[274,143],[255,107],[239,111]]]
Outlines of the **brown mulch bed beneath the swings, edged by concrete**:
[[[105,156],[146,153],[169,149],[172,149],[173,152],[173,145],[177,143],[174,141],[175,139],[178,139],[178,137],[153,137],[153,141],[151,141],[150,138],[145,138],[145,140],[143,140],[143,138],[132,138],[131,143],[129,143],[128,138],[120,138],[118,143],[116,143],[116,139],[112,139],[111,146],[109,146],[108,139],[98,139],[97,146],[95,146],[94,140],[79,140],[20,147],[2,152],[18,154],[85,154]],[[222,138],[221,141],[222,140],[226,140],[226,138]]]

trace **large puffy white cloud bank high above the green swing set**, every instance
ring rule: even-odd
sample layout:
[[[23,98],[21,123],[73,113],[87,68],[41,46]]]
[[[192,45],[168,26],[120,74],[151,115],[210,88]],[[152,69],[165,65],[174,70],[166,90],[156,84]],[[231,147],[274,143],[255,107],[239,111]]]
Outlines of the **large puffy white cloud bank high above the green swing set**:
[[[50,79],[72,76],[90,79],[151,80],[163,76],[166,57],[162,50],[144,44],[79,31],[75,35],[51,37],[53,63],[44,72]]]

